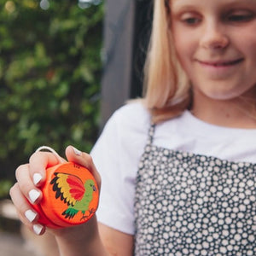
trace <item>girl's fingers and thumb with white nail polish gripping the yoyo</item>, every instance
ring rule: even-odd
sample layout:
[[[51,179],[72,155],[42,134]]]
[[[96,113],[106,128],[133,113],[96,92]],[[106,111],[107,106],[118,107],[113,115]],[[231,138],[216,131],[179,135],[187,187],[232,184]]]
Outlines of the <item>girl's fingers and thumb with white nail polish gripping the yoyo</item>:
[[[96,172],[96,167],[89,154],[82,153],[72,146],[66,149],[67,160],[78,163],[92,172],[100,188],[101,178]],[[10,196],[15,204],[20,220],[33,230],[37,235],[44,234],[45,227],[38,224],[38,212],[31,207],[31,204],[38,204],[42,199],[40,186],[45,181],[45,170],[49,166],[66,162],[61,157],[49,152],[37,152],[32,154],[29,163],[19,166],[16,170],[17,183],[10,189]]]

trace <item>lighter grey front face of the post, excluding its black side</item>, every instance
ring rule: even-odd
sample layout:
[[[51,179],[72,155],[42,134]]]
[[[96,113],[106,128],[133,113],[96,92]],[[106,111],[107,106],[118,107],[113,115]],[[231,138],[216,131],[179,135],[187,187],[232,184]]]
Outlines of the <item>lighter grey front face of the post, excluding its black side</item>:
[[[131,0],[106,2],[102,124],[130,97],[135,6]]]

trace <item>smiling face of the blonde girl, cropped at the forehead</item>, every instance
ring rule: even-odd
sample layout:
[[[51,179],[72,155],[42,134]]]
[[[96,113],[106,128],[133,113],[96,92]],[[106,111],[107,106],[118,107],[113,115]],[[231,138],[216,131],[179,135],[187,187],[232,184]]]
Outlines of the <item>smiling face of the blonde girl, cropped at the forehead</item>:
[[[211,99],[256,84],[256,0],[171,0],[177,55],[195,90]]]

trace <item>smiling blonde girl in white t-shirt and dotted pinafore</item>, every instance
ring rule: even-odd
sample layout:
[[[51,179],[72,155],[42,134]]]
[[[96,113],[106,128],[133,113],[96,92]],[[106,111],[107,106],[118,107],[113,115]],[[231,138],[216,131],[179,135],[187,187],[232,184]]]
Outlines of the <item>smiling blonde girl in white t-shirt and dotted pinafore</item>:
[[[97,220],[52,230],[62,256],[256,255],[255,31],[255,0],[154,1],[145,97],[67,148],[102,189]],[[10,190],[39,235],[26,199],[60,161],[32,154]]]

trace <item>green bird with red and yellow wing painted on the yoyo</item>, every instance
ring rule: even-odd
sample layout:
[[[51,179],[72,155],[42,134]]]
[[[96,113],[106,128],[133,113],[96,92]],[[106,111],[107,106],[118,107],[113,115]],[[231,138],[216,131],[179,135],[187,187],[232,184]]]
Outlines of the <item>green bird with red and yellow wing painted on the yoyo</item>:
[[[60,198],[68,206],[62,212],[62,215],[70,219],[80,211],[83,213],[83,217],[80,220],[89,218],[96,211],[95,209],[89,209],[93,193],[96,191],[95,182],[92,179],[88,179],[83,183],[78,176],[63,172],[55,172],[54,175],[55,177],[50,184],[53,185],[55,198]],[[87,211],[89,215],[85,215]]]

